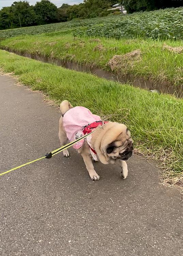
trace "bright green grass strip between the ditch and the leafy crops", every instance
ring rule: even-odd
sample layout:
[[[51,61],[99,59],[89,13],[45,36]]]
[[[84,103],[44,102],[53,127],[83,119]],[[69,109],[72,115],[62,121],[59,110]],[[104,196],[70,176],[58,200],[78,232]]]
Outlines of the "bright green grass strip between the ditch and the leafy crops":
[[[21,52],[40,54],[63,61],[72,60],[77,63],[99,67],[120,75],[134,75],[169,86],[183,89],[183,54],[176,54],[167,49],[163,43],[181,46],[182,41],[159,41],[142,39],[74,39],[71,34],[29,35],[8,38],[0,42],[0,47]],[[96,47],[102,46],[97,49]],[[108,61],[114,55],[123,55],[135,49],[141,50],[140,59],[124,59],[121,65],[113,70]]]

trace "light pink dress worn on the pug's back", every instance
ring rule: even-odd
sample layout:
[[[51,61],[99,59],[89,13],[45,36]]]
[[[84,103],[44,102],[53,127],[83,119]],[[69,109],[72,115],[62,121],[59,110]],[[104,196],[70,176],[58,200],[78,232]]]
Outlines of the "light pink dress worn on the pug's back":
[[[82,132],[83,126],[100,120],[100,116],[93,115],[89,109],[82,106],[76,106],[68,110],[63,116],[63,126],[68,140],[71,142],[81,138],[84,135]],[[82,147],[83,143],[84,139],[78,141],[73,147],[77,150]]]

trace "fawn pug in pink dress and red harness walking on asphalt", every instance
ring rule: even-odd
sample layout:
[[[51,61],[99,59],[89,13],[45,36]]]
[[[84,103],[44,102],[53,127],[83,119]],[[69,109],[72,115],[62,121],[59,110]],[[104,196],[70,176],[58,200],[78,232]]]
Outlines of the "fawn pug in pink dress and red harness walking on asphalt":
[[[62,114],[59,120],[61,146],[89,134],[73,147],[81,154],[90,178],[93,181],[100,179],[94,170],[93,158],[105,165],[112,163],[120,166],[121,177],[126,179],[128,175],[126,161],[132,156],[134,150],[129,129],[124,124],[116,122],[104,123],[100,116],[92,114],[89,109],[82,106],[73,107],[67,100],[61,102],[60,112]],[[96,131],[90,134],[94,130]],[[63,150],[63,155],[68,157],[68,150]]]

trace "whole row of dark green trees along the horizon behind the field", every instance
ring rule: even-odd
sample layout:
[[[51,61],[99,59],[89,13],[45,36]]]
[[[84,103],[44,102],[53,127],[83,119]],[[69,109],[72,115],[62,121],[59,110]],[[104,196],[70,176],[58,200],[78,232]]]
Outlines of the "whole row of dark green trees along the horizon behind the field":
[[[0,10],[0,29],[29,27],[72,19],[94,18],[107,16],[113,4],[124,5],[128,13],[152,11],[157,9],[179,7],[183,0],[83,0],[80,4],[62,4],[60,8],[49,0],[41,0],[30,5],[27,1],[13,2],[9,7]],[[119,14],[119,12],[116,12]]]

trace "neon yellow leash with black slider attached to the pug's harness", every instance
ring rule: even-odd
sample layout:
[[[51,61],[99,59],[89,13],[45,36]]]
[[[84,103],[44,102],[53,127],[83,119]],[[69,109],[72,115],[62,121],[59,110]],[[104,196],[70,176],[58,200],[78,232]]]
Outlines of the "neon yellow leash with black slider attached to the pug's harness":
[[[99,126],[96,130],[94,130],[94,131],[92,131],[92,132],[90,132],[90,133],[84,135],[83,137],[81,137],[81,138],[79,138],[79,139],[77,139],[77,140],[75,140],[75,141],[73,141],[73,142],[70,142],[70,143],[68,143],[68,144],[66,144],[66,145],[64,145],[64,146],[62,146],[62,147],[59,147],[59,148],[57,148],[57,149],[54,150],[54,151],[51,151],[51,152],[47,153],[45,156],[42,156],[42,157],[37,158],[37,159],[35,159],[35,160],[33,160],[33,161],[24,163],[23,165],[19,165],[19,166],[15,167],[15,168],[12,168],[12,169],[8,170],[8,171],[5,171],[5,172],[3,172],[3,173],[0,173],[0,176],[1,176],[1,175],[4,175],[4,174],[6,174],[6,173],[9,173],[9,172],[11,172],[11,171],[15,171],[15,170],[17,170],[17,169],[19,169],[19,168],[21,168],[21,167],[26,166],[26,165],[30,165],[30,163],[34,163],[34,162],[39,161],[39,160],[42,160],[42,159],[44,159],[44,158],[51,158],[52,156],[57,155],[58,153],[62,152],[63,150],[65,150],[65,149],[71,147],[71,146],[74,145],[76,142],[85,139],[85,138],[88,137],[91,133],[97,131],[97,130],[100,129],[101,127],[102,127],[102,126]]]

